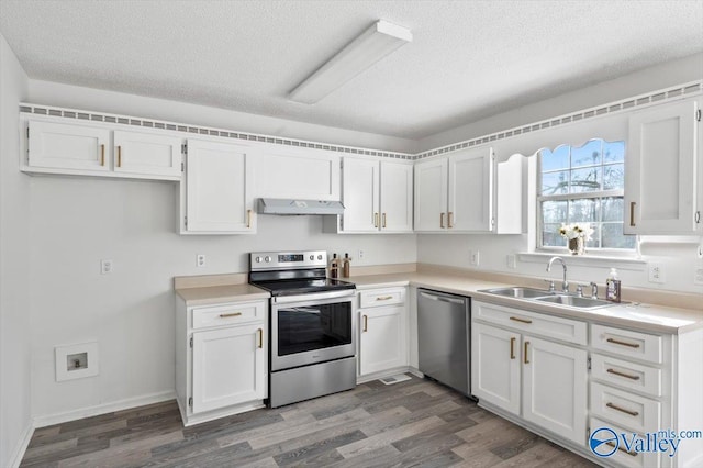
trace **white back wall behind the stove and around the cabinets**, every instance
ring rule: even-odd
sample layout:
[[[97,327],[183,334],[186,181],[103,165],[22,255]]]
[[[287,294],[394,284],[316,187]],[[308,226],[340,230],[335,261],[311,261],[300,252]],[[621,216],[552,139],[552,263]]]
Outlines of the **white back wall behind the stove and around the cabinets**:
[[[82,90],[83,96],[46,82],[31,82],[29,99],[55,103],[44,94],[49,89],[57,97],[75,94],[71,107],[105,112],[142,115],[155,102],[90,89]],[[134,107],[124,107],[126,101]],[[192,105],[158,104],[160,119],[192,121],[186,119]],[[198,122],[209,116],[205,108],[198,112]],[[305,137],[322,141],[331,134],[334,129]],[[40,424],[62,414],[77,417],[91,406],[134,405],[174,391],[174,276],[246,272],[247,255],[256,250],[348,252],[355,257],[353,266],[416,259],[413,234],[323,234],[322,216],[259,215],[254,236],[180,236],[176,183],[19,177],[29,180],[32,204],[32,410]],[[359,249],[362,260],[356,259]],[[197,254],[207,256],[207,267],[196,267]],[[113,260],[111,275],[100,275],[100,259]],[[100,375],[55,382],[54,346],[90,341],[99,343]]]

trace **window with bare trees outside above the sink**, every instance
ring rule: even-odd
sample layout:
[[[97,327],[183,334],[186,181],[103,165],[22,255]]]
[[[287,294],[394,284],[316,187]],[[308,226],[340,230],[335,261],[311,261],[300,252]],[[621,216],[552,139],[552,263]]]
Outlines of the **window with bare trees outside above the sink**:
[[[590,223],[587,248],[634,248],[623,235],[625,142],[591,140],[581,147],[562,145],[538,153],[540,247],[565,247],[562,223]]]

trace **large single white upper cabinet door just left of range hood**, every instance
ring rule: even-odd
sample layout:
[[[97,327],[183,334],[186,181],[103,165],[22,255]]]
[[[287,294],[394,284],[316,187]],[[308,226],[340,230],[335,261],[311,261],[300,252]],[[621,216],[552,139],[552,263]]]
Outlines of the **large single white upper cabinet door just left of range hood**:
[[[256,232],[248,152],[249,148],[243,145],[188,141],[187,232]]]

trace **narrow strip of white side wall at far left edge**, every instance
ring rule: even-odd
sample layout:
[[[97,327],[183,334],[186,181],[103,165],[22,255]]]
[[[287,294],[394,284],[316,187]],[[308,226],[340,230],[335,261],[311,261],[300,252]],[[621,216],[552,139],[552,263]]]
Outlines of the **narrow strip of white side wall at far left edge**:
[[[0,466],[18,461],[31,430],[29,180],[19,172],[24,70],[0,35]]]

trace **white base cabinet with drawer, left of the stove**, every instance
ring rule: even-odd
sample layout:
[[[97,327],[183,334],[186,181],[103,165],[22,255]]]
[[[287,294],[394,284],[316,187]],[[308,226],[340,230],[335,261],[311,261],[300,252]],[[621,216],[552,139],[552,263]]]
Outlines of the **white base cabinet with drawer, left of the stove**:
[[[267,302],[176,310],[176,393],[185,425],[261,408],[268,397]]]

